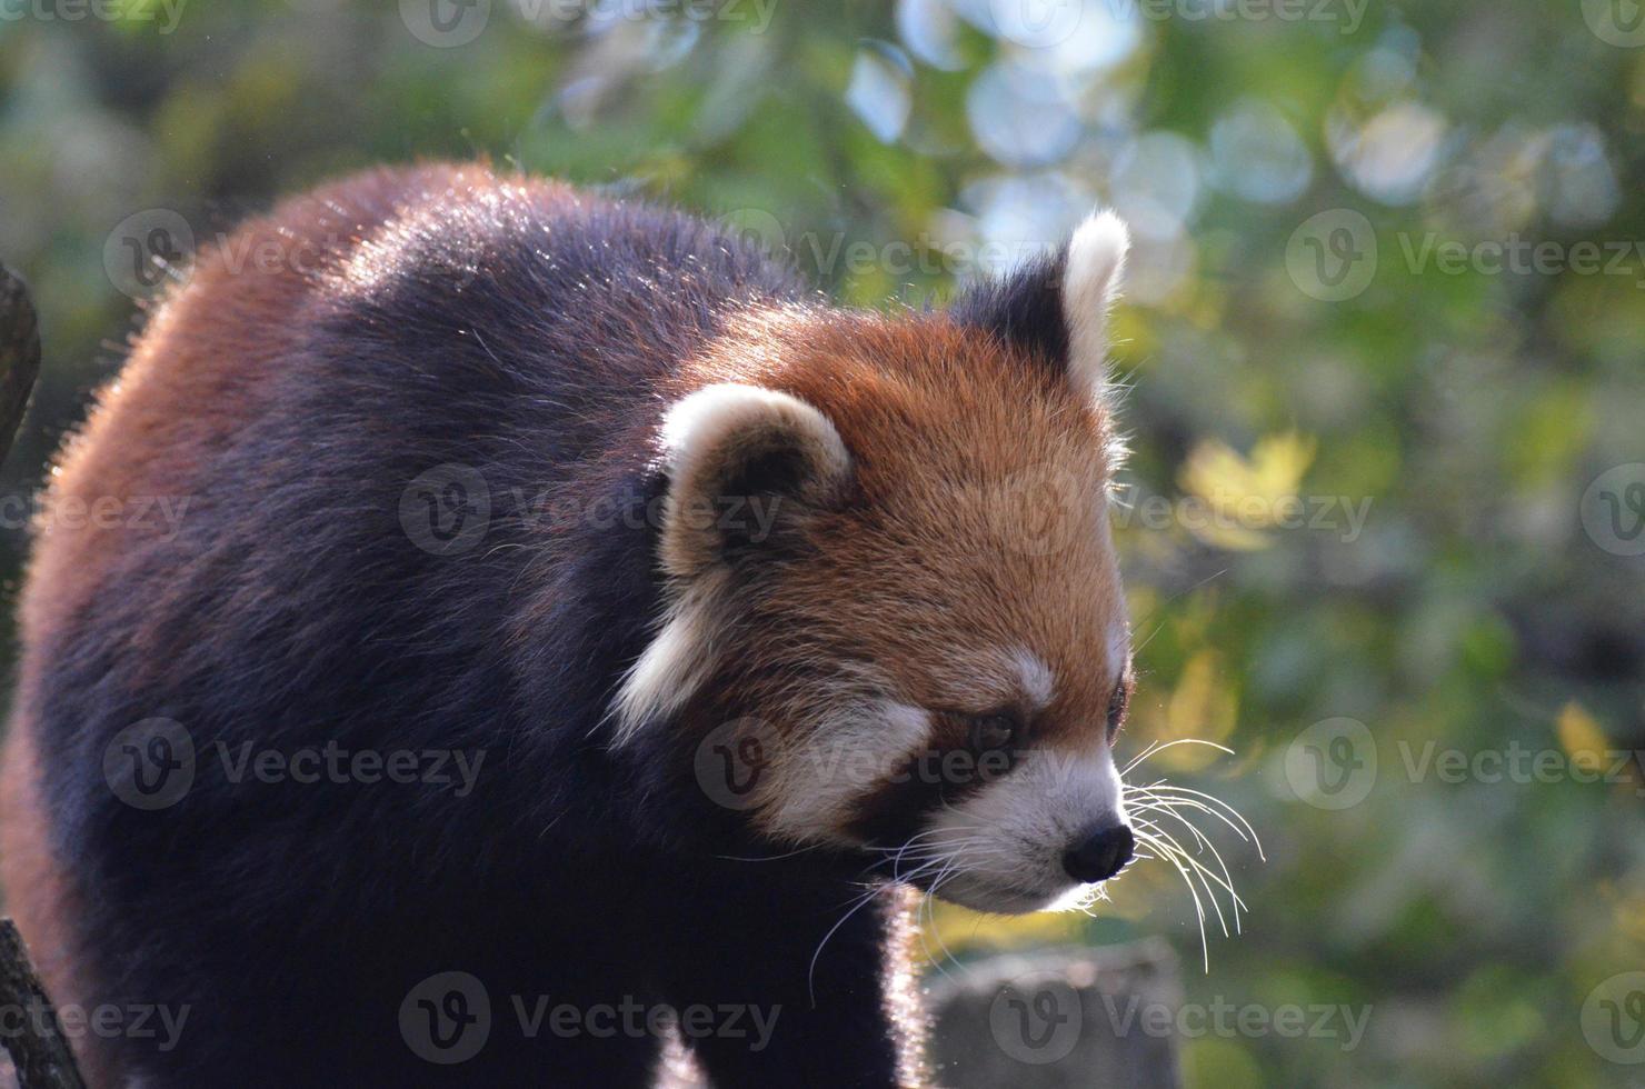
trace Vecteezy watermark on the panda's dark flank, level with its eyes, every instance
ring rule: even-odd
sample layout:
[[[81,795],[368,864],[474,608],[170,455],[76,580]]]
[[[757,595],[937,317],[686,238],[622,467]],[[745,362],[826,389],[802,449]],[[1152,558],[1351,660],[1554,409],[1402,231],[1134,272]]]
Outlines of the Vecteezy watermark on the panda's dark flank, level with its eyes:
[[[176,719],[143,719],[104,747],[104,781],[128,806],[166,809],[188,796],[207,757],[237,786],[396,783],[449,788],[454,798],[474,791],[485,763],[484,748],[345,748],[336,740],[291,747],[212,740],[201,750]]]

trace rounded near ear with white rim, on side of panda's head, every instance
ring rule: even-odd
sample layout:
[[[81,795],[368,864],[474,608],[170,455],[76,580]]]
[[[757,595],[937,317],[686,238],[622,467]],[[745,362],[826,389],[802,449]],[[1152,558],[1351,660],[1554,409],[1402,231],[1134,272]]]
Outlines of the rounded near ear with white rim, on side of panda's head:
[[[661,559],[697,576],[757,549],[796,512],[834,498],[850,454],[821,411],[753,385],[709,385],[663,418]]]

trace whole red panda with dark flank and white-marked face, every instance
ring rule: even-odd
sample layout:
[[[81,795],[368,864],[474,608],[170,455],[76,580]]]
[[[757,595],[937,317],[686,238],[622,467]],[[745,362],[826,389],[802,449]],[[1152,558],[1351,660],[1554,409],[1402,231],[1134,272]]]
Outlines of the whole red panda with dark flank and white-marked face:
[[[479,165],[262,245],[316,260],[201,255],[53,474],[181,518],[48,521],[23,592],[10,910],[59,1003],[186,1013],[84,1033],[90,1082],[658,1074],[658,1022],[548,997],[760,1012],[660,1022],[721,1087],[921,1084],[873,890],[1031,911],[1132,857],[1124,225],[897,314]]]

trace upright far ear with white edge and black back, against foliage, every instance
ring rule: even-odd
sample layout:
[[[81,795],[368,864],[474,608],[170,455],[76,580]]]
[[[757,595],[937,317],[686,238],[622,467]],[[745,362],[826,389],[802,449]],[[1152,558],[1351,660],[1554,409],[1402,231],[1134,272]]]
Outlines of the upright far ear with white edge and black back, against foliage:
[[[1097,212],[1059,252],[971,288],[951,313],[962,324],[1053,362],[1079,393],[1101,398],[1107,385],[1109,309],[1119,296],[1128,248],[1120,217]]]

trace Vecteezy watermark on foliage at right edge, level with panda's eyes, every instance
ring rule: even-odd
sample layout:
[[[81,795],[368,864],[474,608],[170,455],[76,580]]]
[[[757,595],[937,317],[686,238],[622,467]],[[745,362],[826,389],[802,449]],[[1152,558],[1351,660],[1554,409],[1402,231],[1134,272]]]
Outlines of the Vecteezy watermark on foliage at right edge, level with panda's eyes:
[[[1604,748],[1566,752],[1510,740],[1500,748],[1441,747],[1395,742],[1397,763],[1377,752],[1370,729],[1357,719],[1324,719],[1298,734],[1285,750],[1285,781],[1291,793],[1319,809],[1347,809],[1362,803],[1379,772],[1397,768],[1405,783],[1482,783],[1518,786],[1556,783],[1607,783],[1633,786],[1645,798],[1645,750]]]

